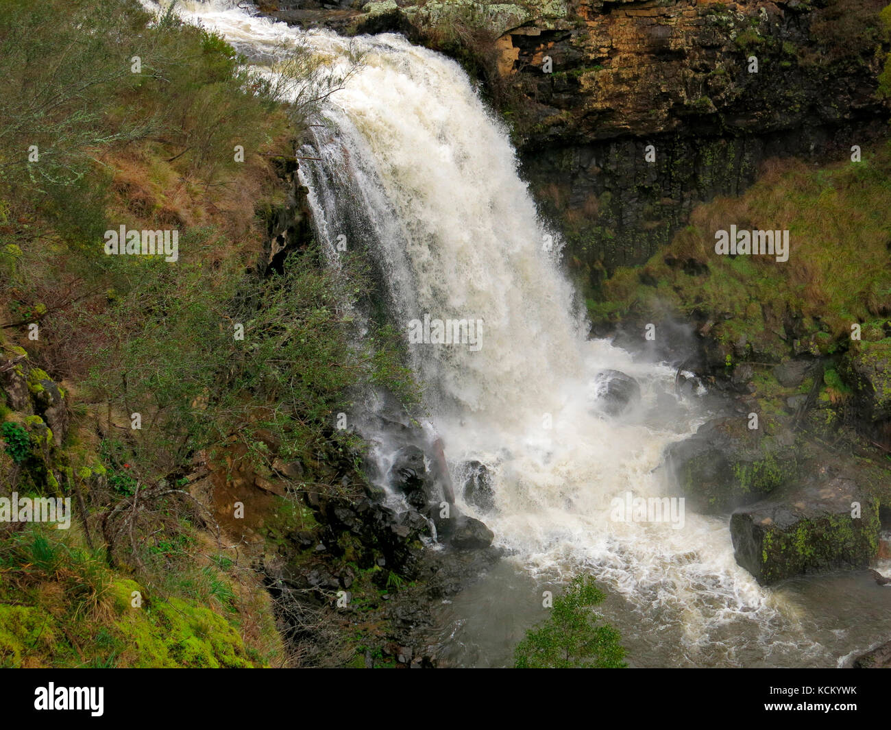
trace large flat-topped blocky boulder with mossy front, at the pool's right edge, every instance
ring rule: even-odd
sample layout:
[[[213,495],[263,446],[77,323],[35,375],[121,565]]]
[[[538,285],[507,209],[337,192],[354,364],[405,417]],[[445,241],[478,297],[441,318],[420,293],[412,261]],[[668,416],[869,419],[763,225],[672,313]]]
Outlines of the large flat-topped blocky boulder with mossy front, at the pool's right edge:
[[[759,583],[866,568],[879,550],[879,504],[854,480],[816,477],[733,513],[736,562]]]

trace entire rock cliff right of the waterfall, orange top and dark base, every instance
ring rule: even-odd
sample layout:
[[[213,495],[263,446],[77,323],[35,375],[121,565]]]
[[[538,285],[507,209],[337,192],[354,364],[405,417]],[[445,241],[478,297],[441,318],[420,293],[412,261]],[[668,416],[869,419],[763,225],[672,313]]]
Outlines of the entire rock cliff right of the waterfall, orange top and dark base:
[[[276,17],[299,21],[305,4]],[[841,160],[885,131],[886,4],[386,0],[330,12],[341,30],[403,32],[482,78],[591,291],[650,258],[700,201],[741,193],[762,160]]]

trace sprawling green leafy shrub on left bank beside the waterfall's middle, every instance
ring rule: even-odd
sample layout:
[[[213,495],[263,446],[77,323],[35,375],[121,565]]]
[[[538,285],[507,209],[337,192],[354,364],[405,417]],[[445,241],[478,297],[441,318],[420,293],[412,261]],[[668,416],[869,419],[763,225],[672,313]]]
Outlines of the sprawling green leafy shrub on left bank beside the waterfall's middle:
[[[243,279],[234,266],[191,260],[177,267],[176,286],[170,276],[163,262],[131,269],[109,320],[103,317],[108,336],[91,381],[121,412],[143,414],[119,463],[155,464],[153,478],[236,432],[261,460],[268,458],[261,432],[273,435],[285,459],[331,440],[348,449],[353,441],[332,427],[354,386],[419,399],[392,332],[381,330],[367,347],[353,344],[342,314],[347,281],[317,266],[312,252],[289,258],[282,274],[263,283]],[[366,291],[361,277],[350,273],[350,291]],[[135,311],[142,313],[136,320]],[[110,480],[123,491],[132,486],[120,470]]]

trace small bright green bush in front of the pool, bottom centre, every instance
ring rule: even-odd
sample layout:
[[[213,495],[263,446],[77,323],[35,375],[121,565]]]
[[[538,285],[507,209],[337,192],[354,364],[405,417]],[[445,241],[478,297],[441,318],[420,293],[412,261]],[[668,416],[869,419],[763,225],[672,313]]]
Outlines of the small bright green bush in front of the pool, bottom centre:
[[[606,596],[584,576],[554,599],[551,617],[529,629],[514,652],[516,668],[625,668],[625,649],[591,607]]]

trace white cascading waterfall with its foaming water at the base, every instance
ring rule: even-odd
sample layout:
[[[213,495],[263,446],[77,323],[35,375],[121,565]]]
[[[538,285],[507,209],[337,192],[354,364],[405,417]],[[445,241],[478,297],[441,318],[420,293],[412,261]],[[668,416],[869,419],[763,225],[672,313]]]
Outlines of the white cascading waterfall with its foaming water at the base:
[[[732,644],[743,634],[785,642],[799,658],[817,652],[796,602],[736,564],[725,519],[688,511],[683,529],[610,520],[614,496],[666,494],[664,449],[704,414],[696,398],[674,398],[673,369],[586,340],[557,266],[558,237],[461,68],[403,37],[290,29],[233,2],[180,12],[254,53],[297,38],[334,64],[347,63],[350,44],[364,53],[315,120],[305,152],[322,161],[302,163],[301,179],[327,250],[339,235],[374,250],[397,325],[425,314],[482,320],[477,351],[416,344],[410,353],[456,492],[460,464],[478,460],[492,474],[496,512],[477,516],[509,560],[549,581],[589,570],[642,625],[674,632],[683,657],[665,663],[739,663]],[[592,383],[606,369],[641,382],[629,414],[601,411]]]

